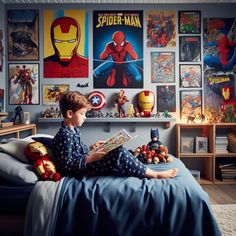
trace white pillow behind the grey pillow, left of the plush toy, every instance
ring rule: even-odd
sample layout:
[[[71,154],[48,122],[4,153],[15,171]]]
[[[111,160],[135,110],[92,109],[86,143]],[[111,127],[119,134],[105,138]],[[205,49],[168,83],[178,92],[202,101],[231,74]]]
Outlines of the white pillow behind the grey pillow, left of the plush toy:
[[[30,142],[32,141],[26,141],[24,139],[11,139],[8,143],[0,144],[0,151],[8,153],[24,163],[29,163],[28,159],[25,157],[24,148]]]

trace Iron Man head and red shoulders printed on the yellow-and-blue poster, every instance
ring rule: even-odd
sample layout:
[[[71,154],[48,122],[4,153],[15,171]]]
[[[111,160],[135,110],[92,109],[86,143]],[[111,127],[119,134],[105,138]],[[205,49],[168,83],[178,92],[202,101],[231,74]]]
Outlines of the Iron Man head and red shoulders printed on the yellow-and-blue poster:
[[[78,55],[79,23],[71,17],[60,17],[51,25],[55,54],[44,59],[45,78],[88,77],[88,59]]]

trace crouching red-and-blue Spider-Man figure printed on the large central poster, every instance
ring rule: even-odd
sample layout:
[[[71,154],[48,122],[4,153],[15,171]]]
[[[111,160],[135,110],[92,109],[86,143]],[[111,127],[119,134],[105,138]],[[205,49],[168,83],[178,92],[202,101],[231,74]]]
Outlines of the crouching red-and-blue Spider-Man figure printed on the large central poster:
[[[100,54],[100,59],[105,60],[95,71],[96,78],[107,78],[107,86],[115,85],[116,72],[122,71],[122,82],[125,87],[131,83],[131,79],[140,81],[141,75],[133,60],[138,59],[130,42],[126,41],[122,31],[116,31],[112,36],[112,41],[106,44],[104,51]]]

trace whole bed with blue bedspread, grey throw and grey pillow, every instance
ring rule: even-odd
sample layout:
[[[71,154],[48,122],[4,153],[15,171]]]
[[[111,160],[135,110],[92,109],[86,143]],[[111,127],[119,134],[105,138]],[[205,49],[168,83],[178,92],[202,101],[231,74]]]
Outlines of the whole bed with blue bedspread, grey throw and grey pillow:
[[[0,162],[4,155],[20,163],[19,151],[16,158],[13,153],[1,150]],[[24,202],[20,213],[24,219],[24,234],[221,235],[207,193],[184,164],[175,157],[173,159],[168,164],[149,165],[158,170],[178,167],[178,176],[168,180],[114,175],[77,179],[65,177],[58,182],[40,181],[32,179],[35,172],[24,163],[28,172],[32,172],[32,180],[27,180],[27,184],[23,185],[14,180],[15,187],[19,185],[21,190],[27,192],[24,200],[21,199]],[[9,176],[0,175],[10,181]],[[10,184],[5,182],[4,186]],[[2,187],[1,184],[0,195],[3,193]],[[4,205],[6,199],[1,201]],[[17,214],[19,212],[14,211],[13,207],[8,218]]]

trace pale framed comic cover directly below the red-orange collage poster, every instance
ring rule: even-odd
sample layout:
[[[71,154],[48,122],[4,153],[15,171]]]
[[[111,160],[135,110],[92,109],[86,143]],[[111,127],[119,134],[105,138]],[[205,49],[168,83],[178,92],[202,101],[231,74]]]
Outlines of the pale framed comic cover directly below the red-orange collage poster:
[[[174,52],[151,52],[151,82],[175,82]]]

